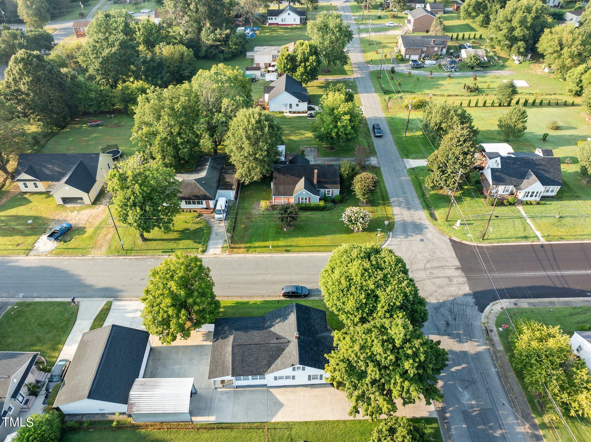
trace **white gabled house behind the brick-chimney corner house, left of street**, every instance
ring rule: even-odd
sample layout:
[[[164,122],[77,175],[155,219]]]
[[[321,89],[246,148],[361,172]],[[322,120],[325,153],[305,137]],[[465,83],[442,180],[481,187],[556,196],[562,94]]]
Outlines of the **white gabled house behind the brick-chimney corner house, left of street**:
[[[282,75],[265,86],[259,105],[271,112],[307,112],[310,95],[300,81]]]

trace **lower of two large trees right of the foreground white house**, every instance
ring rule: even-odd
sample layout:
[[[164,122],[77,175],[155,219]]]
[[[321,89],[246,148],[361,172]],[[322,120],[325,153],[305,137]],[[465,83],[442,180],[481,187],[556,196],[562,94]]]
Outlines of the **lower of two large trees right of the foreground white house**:
[[[447,352],[408,319],[376,319],[337,330],[334,336],[327,381],[345,391],[352,404],[350,416],[391,416],[398,409],[397,399],[402,405],[443,400],[436,376],[447,365]]]

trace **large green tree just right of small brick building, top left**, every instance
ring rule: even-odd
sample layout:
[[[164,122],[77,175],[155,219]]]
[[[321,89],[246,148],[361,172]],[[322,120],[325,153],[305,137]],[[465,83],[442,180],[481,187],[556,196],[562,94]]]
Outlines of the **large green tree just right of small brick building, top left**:
[[[86,30],[79,61],[87,77],[101,86],[131,80],[138,60],[135,27],[123,9],[97,12]]]

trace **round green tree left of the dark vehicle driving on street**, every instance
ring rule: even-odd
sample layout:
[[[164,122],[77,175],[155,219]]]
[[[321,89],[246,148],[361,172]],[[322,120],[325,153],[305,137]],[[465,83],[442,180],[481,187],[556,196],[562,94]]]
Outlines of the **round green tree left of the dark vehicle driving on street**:
[[[359,108],[347,101],[346,94],[330,90],[320,99],[320,111],[311,130],[320,142],[339,148],[357,137],[362,120]]]

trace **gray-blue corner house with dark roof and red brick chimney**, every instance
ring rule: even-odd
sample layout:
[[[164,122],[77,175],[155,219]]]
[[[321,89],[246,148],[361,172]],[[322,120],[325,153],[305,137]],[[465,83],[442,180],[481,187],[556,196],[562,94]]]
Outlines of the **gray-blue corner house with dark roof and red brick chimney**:
[[[302,162],[307,161],[303,158]],[[275,164],[271,195],[273,204],[319,202],[340,192],[339,165]]]

